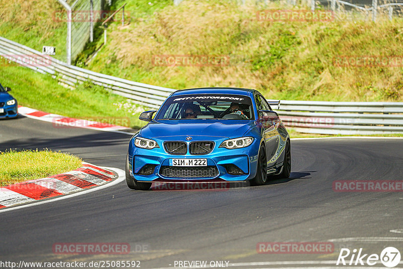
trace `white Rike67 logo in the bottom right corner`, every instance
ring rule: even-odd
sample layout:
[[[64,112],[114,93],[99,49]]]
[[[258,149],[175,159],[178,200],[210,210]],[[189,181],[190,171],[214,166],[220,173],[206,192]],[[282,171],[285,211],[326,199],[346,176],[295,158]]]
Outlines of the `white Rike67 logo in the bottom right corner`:
[[[351,258],[349,256],[351,254]],[[346,263],[347,260],[347,263]],[[381,254],[365,254],[362,252],[362,248],[358,250],[353,249],[351,253],[350,249],[342,248],[340,250],[339,258],[337,259],[336,265],[375,265],[376,263],[382,262],[383,265],[387,267],[394,267],[400,262],[400,252],[395,247],[386,247],[382,250]]]

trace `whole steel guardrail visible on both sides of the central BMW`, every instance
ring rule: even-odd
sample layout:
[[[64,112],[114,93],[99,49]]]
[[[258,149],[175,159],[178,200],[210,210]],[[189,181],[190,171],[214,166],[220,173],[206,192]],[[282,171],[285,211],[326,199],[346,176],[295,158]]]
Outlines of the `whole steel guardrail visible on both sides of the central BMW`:
[[[159,108],[174,89],[132,82],[74,65],[66,64],[39,51],[0,37],[0,55],[21,63],[18,55],[35,55],[42,64],[28,68],[51,74],[60,84],[75,87],[91,81],[113,93],[150,108]],[[36,61],[38,61],[36,59]],[[286,126],[297,131],[323,134],[403,133],[403,103],[401,102],[321,102],[281,101],[278,110]]]

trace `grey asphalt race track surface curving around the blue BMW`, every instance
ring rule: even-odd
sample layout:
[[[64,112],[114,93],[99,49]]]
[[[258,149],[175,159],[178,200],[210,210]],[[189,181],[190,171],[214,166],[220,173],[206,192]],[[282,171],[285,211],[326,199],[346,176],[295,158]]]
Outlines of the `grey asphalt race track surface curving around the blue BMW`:
[[[122,133],[54,128],[25,117],[0,121],[0,129],[0,150],[48,148],[119,169],[124,169],[130,139]],[[141,268],[173,267],[175,260],[225,260],[234,268],[341,268],[335,265],[341,248],[378,255],[388,246],[403,251],[403,234],[390,232],[403,229],[401,191],[332,189],[335,180],[402,180],[403,140],[337,138],[291,144],[291,177],[265,186],[133,191],[120,182],[53,203],[0,211],[0,260],[140,260]],[[328,254],[256,250],[258,242],[329,240],[334,252]],[[124,242],[131,252],[54,254],[52,246],[60,242]],[[381,263],[369,267],[384,268]]]

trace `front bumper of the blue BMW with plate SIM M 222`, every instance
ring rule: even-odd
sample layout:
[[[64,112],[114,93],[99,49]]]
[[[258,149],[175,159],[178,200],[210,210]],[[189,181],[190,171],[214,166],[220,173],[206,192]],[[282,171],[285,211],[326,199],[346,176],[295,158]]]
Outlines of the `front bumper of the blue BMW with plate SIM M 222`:
[[[160,148],[142,149],[133,145],[134,139],[132,139],[128,152],[130,175],[138,181],[148,182],[232,182],[252,179],[256,174],[260,141],[255,139],[251,145],[241,149],[219,148],[221,143],[227,139],[217,140],[214,138],[214,140],[209,140],[209,138],[204,137],[192,140],[192,142],[207,140],[215,142],[213,151],[205,155],[169,154],[163,147],[163,141],[158,139],[154,140]],[[184,139],[177,138],[164,141],[184,141]],[[189,142],[186,143],[189,144]],[[207,159],[207,166],[170,166],[170,159]],[[144,174],[146,170],[148,173]]]

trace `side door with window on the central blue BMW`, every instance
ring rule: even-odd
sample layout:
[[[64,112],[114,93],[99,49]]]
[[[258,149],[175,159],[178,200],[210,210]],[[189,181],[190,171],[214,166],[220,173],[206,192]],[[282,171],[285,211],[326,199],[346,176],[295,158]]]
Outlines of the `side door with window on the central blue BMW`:
[[[259,110],[272,110],[268,105],[266,99],[260,94],[255,95],[255,102],[257,111]],[[259,114],[259,119],[261,119],[261,113]],[[272,159],[275,156],[277,149],[279,147],[279,132],[277,130],[278,125],[273,124],[271,120],[260,121],[263,126],[263,138],[266,146],[266,156],[268,167],[273,163]]]

